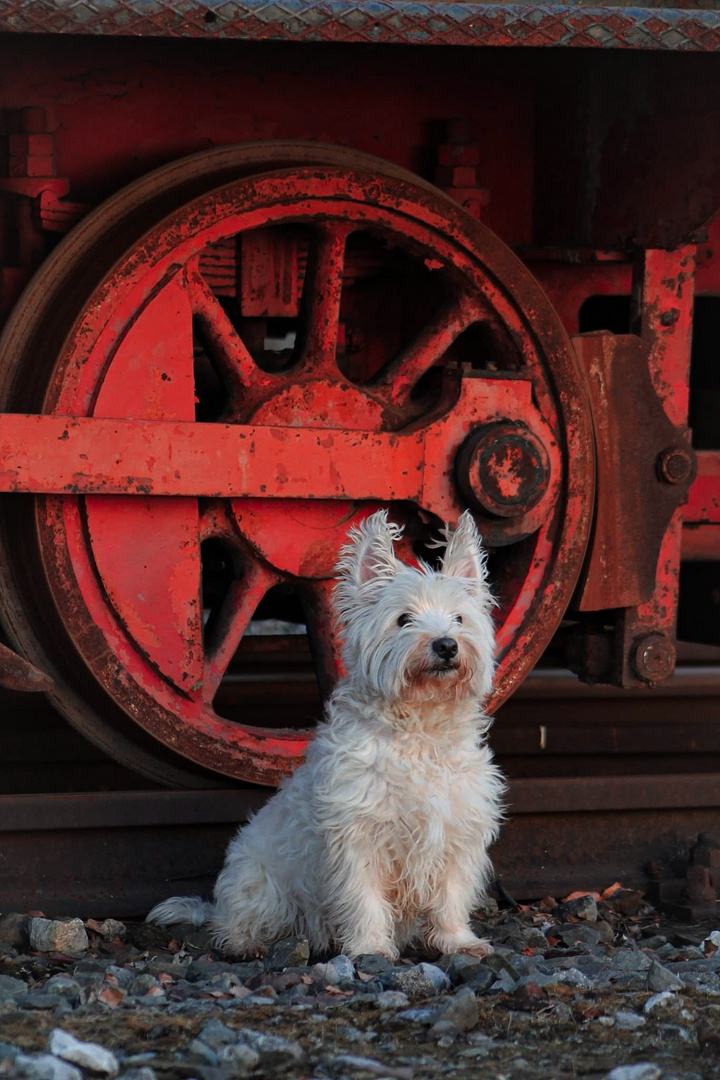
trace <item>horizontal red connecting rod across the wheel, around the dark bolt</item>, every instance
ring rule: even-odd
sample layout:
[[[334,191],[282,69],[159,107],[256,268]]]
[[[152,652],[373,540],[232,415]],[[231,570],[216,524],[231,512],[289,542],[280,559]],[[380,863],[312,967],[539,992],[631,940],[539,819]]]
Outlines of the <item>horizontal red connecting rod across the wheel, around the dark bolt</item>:
[[[555,503],[557,444],[522,379],[465,379],[454,413],[420,431],[347,431],[174,420],[0,414],[0,491],[256,499],[410,501],[441,521],[457,514],[447,477],[464,434],[498,417],[545,436]],[[288,463],[293,463],[291,471]]]

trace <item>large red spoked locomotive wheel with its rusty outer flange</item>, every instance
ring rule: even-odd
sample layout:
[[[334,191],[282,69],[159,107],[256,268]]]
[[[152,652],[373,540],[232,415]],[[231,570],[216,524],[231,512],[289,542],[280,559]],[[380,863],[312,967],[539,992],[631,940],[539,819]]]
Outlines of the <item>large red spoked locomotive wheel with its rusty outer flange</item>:
[[[49,260],[0,342],[0,372],[5,410],[173,420],[198,438],[229,426],[246,440],[240,462],[208,460],[217,485],[193,495],[142,494],[161,468],[148,449],[132,494],[6,502],[11,637],[52,671],[73,724],[154,779],[272,784],[298,764],[310,732],[227,719],[217,689],[283,582],[331,680],[332,566],[379,503],[406,524],[408,557],[475,511],[500,600],[492,707],[567,608],[593,499],[570,343],[494,235],[386,163],[279,144],[146,178]],[[162,459],[172,488],[172,446]],[[214,602],[208,543],[232,567]]]

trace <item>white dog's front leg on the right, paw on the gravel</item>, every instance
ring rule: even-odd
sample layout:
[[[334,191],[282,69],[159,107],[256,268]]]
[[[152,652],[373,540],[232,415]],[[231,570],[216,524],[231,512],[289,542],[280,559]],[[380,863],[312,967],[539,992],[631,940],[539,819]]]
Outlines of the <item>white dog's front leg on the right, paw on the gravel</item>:
[[[441,953],[489,956],[492,945],[470,928],[470,914],[478,893],[478,869],[489,866],[485,853],[456,852],[445,864],[436,894],[426,913],[427,944]],[[483,875],[485,877],[485,875]]]

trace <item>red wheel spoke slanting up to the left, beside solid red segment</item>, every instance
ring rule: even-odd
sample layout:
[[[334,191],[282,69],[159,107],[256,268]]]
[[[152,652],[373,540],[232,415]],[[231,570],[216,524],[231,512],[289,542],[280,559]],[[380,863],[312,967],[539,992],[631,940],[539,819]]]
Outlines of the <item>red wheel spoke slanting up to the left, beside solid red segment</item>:
[[[188,266],[186,278],[192,313],[202,327],[212,359],[233,397],[246,406],[259,396],[261,386],[269,380],[253,360],[195,264]]]

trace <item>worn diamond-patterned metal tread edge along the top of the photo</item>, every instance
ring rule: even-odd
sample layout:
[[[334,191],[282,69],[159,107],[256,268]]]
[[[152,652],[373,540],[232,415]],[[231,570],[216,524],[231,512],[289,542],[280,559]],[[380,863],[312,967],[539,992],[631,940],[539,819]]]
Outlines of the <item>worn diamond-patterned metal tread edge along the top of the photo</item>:
[[[715,52],[719,2],[682,10],[434,0],[0,0],[0,31]]]

